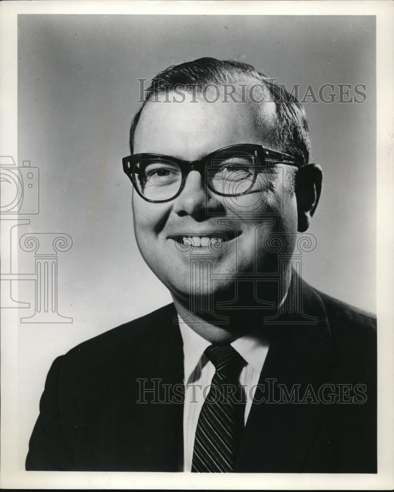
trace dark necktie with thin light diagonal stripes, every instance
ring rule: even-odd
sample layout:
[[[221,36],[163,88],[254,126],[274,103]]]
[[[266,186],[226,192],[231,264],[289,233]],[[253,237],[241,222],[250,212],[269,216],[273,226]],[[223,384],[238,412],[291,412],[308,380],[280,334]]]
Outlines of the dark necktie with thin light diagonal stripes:
[[[198,417],[192,471],[228,472],[244,428],[245,393],[239,376],[246,362],[231,345],[210,345],[204,354],[216,372]]]

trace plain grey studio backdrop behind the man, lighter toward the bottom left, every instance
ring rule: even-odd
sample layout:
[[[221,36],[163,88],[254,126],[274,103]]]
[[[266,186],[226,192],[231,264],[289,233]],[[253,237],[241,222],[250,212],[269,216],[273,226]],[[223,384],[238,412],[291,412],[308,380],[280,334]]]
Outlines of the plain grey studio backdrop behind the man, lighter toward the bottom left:
[[[139,78],[203,56],[253,64],[287,88],[366,85],[364,103],[307,102],[312,157],[324,169],[304,277],[375,309],[375,19],[338,16],[20,15],[18,164],[39,168],[40,211],[18,234],[59,233],[58,312],[72,323],[21,323],[21,466],[53,359],[80,341],[170,302],[133,237],[121,157],[139,107]],[[309,98],[309,101],[311,98]],[[27,211],[28,212],[28,211]],[[19,255],[34,271],[32,253]],[[19,282],[30,302],[34,282]],[[23,312],[22,312],[23,311]]]

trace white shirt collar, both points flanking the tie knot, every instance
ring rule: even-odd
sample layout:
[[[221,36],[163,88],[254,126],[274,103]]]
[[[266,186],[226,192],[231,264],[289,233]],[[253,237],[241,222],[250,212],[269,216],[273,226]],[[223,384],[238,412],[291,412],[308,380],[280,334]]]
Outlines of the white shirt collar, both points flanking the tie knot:
[[[185,359],[185,382],[200,362],[204,350],[211,342],[202,338],[179,316],[179,329],[183,340],[183,354]],[[231,342],[231,346],[245,359],[247,364],[260,373],[267,356],[269,343],[262,334],[246,334]]]

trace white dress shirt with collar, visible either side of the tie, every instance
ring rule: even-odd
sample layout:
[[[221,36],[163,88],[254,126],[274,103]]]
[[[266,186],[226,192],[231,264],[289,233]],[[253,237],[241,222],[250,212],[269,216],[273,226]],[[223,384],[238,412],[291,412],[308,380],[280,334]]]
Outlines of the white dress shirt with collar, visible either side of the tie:
[[[178,315],[179,328],[183,340],[185,367],[185,404],[183,409],[183,451],[184,471],[192,470],[194,439],[202,404],[209,392],[215,367],[204,355],[211,342],[192,330]],[[244,335],[231,343],[231,346],[245,359],[239,382],[245,385],[246,406],[244,423],[251,410],[254,391],[261,369],[268,353],[268,342],[262,336]]]

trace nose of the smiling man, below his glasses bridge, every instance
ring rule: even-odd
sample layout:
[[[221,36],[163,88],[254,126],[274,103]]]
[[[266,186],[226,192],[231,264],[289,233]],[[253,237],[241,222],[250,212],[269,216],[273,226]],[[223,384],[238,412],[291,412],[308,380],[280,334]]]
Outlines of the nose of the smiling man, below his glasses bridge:
[[[220,209],[220,202],[206,189],[201,174],[190,171],[180,195],[175,198],[173,211],[178,215],[191,215],[193,218],[205,218],[208,209],[214,213]]]

